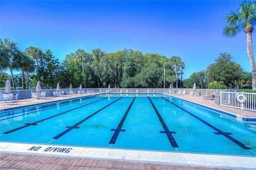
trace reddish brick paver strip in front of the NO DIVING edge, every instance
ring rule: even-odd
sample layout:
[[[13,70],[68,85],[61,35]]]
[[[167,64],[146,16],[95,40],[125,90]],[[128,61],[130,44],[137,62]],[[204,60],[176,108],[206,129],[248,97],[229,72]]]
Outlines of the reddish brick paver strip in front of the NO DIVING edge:
[[[134,162],[0,154],[1,170],[216,170]]]

